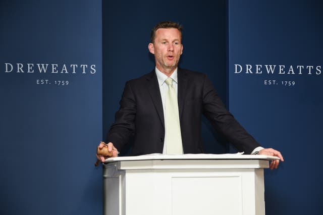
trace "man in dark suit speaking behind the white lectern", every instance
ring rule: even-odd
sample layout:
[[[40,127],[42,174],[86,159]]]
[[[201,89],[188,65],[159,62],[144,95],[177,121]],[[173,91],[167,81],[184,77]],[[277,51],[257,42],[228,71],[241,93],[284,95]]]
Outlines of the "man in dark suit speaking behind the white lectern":
[[[234,119],[205,74],[177,67],[183,53],[181,30],[174,22],[161,22],[152,29],[148,49],[156,67],[126,83],[106,138],[112,156],[130,139],[134,139],[133,155],[203,153],[203,114],[239,151],[278,156],[284,161],[279,151],[261,147]],[[101,162],[106,158],[96,157]],[[270,168],[277,168],[280,160],[273,160]]]

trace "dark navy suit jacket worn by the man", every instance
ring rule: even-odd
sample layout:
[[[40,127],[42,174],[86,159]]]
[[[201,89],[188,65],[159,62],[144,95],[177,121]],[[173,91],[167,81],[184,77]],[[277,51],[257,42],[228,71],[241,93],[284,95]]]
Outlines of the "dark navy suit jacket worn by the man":
[[[201,117],[224,135],[239,151],[251,153],[260,146],[228,112],[205,74],[178,68],[178,107],[184,153],[204,153]],[[133,140],[132,155],[162,153],[165,123],[155,70],[126,83],[107,134],[118,150]]]

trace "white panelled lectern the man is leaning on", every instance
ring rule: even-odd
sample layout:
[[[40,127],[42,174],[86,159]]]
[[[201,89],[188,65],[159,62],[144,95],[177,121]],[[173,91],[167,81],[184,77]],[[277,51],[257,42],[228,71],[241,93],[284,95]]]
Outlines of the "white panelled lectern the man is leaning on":
[[[278,157],[114,157],[103,168],[105,215],[264,215],[263,169]]]

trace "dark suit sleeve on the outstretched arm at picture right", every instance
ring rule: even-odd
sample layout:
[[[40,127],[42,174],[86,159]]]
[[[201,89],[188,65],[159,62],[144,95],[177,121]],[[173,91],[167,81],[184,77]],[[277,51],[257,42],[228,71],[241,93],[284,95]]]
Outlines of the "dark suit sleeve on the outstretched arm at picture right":
[[[239,151],[250,154],[259,143],[237,122],[225,108],[220,96],[211,81],[204,76],[203,84],[203,114],[213,128],[224,135]]]

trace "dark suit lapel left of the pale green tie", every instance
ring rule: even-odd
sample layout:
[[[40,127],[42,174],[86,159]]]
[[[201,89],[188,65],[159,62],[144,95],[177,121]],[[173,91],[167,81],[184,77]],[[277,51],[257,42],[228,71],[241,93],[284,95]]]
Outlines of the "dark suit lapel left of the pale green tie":
[[[157,80],[155,70],[153,70],[151,73],[149,73],[147,75],[146,80],[147,80],[146,86],[147,86],[148,92],[149,92],[150,97],[153,101],[155,109],[158,113],[161,124],[163,124],[163,126],[165,128],[163,102],[161,102],[160,89],[159,89],[158,80]]]

